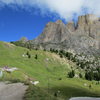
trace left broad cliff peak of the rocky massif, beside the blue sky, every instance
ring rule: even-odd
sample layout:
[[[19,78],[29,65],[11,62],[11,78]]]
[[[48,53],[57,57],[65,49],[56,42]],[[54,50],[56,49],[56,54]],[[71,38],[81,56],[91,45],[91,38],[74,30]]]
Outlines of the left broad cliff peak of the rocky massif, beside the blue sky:
[[[43,33],[35,40],[37,43],[60,43],[66,39],[70,32],[67,31],[66,25],[58,20],[55,23],[49,22]]]

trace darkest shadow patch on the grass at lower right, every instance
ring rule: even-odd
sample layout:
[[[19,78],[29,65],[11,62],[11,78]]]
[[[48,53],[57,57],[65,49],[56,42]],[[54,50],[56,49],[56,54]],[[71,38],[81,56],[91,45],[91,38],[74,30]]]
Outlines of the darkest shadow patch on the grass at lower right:
[[[92,89],[61,86],[53,87],[51,90],[54,92],[60,91],[58,96],[64,98],[64,100],[68,100],[71,97],[100,97],[100,94],[94,93]]]

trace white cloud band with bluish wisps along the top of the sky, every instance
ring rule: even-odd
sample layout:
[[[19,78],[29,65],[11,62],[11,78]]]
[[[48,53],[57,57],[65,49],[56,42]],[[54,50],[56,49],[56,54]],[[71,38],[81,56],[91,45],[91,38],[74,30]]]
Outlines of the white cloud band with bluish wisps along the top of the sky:
[[[100,15],[100,0],[0,0],[4,5],[19,5],[22,8],[39,8],[42,14],[54,13],[68,20],[73,15],[88,13]]]

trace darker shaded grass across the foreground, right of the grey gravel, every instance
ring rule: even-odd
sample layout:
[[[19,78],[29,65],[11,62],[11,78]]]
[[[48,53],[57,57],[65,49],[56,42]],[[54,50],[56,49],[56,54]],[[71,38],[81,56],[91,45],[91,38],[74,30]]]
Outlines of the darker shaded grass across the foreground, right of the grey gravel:
[[[79,87],[58,86],[49,88],[48,91],[48,88],[30,86],[24,100],[69,100],[71,97],[100,97],[100,94]]]

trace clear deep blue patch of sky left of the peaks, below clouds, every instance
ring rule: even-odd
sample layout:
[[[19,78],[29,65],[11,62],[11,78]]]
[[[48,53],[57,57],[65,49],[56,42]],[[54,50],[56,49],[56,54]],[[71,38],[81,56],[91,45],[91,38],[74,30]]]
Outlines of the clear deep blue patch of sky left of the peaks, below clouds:
[[[52,17],[43,17],[39,13],[35,14],[23,9],[13,10],[4,7],[0,10],[0,41],[16,41],[21,37],[33,39],[42,33],[45,25],[49,21],[54,21]]]

